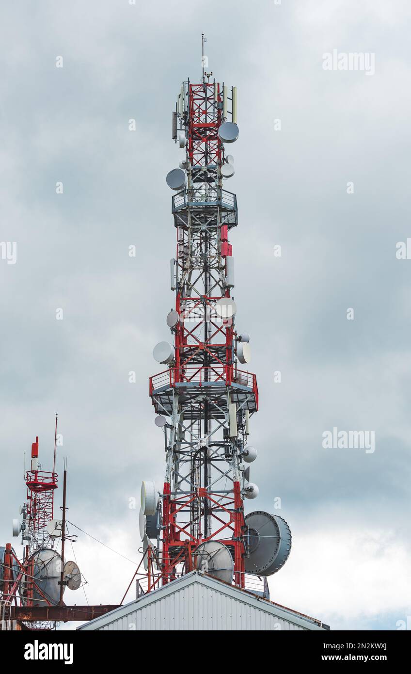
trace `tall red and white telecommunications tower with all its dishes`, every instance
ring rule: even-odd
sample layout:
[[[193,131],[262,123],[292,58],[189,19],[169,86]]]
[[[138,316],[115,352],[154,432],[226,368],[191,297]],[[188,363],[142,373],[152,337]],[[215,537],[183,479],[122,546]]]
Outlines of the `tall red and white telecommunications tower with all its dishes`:
[[[148,590],[195,569],[244,588],[246,574],[277,572],[291,547],[283,518],[245,514],[245,499],[259,491],[247,466],[257,457],[249,435],[258,388],[247,369],[249,334],[235,326],[228,237],[238,210],[236,195],[224,189],[234,175],[226,150],[239,137],[237,90],[211,76],[203,69],[199,84],[183,82],[172,113],[172,138],[184,154],[166,177],[175,191],[175,306],[166,317],[171,339],[153,352],[166,369],[150,377],[166,470],[160,490],[152,481],[141,485]]]

